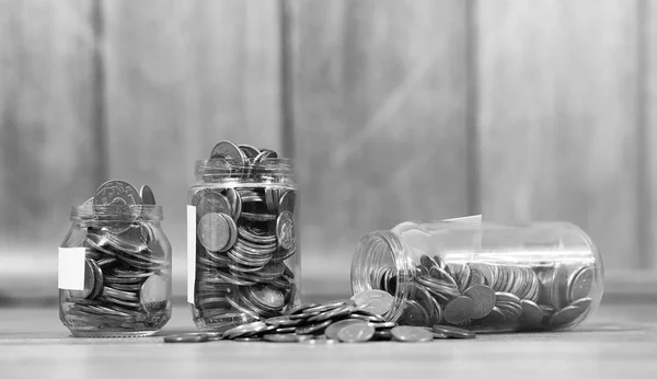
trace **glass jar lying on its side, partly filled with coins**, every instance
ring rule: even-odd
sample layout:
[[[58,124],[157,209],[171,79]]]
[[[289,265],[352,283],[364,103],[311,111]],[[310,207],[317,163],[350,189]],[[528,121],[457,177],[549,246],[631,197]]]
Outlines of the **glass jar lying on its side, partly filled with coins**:
[[[564,330],[602,297],[598,250],[566,222],[402,222],[365,236],[351,289],[394,297],[389,321],[477,332]]]

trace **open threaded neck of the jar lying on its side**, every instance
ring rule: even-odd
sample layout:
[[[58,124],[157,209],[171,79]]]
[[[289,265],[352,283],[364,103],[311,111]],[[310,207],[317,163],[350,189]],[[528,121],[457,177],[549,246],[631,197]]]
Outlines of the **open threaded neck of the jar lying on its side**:
[[[406,301],[413,298],[415,276],[410,248],[397,233],[373,231],[358,243],[351,264],[351,290],[354,294],[370,289],[391,292],[394,302],[385,315],[389,321],[396,321]]]

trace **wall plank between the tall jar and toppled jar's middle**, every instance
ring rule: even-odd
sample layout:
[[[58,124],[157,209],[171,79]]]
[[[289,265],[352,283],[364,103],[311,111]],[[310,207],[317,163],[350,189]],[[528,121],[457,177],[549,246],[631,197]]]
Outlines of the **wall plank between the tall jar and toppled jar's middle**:
[[[466,4],[290,4],[304,273],[348,286],[365,233],[468,211]]]

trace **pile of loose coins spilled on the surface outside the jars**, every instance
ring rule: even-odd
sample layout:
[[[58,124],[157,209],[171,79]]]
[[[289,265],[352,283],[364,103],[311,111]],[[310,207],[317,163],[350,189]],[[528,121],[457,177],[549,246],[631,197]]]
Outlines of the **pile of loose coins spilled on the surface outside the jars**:
[[[473,338],[473,332],[448,326],[404,326],[381,315],[392,307],[393,298],[369,290],[349,300],[323,305],[303,305],[285,315],[235,326],[223,333],[186,333],[164,337],[168,343],[208,341],[277,343],[358,343],[367,341],[429,342],[438,338]]]

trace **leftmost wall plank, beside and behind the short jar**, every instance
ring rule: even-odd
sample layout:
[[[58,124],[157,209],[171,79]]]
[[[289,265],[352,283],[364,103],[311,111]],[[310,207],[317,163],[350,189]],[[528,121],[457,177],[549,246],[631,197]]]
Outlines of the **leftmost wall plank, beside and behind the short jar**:
[[[0,1],[2,262],[13,262],[16,245],[55,254],[70,207],[95,190],[102,158],[92,12],[82,0]]]

